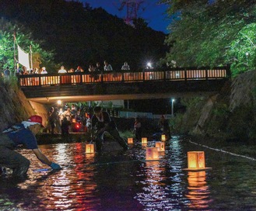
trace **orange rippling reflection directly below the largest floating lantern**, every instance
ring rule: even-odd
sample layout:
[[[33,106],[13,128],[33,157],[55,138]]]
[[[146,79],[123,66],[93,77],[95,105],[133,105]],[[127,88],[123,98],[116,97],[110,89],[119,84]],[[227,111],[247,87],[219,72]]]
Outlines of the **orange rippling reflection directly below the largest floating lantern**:
[[[209,187],[206,182],[205,171],[188,171],[188,194],[190,200],[188,204],[191,209],[209,208]]]

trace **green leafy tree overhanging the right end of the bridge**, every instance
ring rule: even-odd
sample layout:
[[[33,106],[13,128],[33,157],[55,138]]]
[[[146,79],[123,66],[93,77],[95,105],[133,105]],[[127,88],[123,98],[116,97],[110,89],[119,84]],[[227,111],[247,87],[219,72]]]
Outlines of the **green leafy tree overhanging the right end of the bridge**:
[[[256,2],[253,0],[163,0],[172,17],[163,60],[177,66],[231,64],[231,71],[255,68]]]

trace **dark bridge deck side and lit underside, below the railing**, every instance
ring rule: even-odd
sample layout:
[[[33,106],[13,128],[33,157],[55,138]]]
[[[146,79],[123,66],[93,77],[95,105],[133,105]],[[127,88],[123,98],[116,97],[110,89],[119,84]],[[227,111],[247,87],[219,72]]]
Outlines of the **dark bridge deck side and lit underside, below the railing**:
[[[114,99],[167,99],[214,95],[226,80],[149,81],[88,85],[23,87],[26,98],[40,103],[106,101]]]

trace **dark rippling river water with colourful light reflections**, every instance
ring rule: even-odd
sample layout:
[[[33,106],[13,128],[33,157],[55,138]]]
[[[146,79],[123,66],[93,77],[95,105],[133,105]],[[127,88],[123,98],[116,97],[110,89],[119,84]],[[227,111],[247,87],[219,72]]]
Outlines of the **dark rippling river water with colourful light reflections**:
[[[35,171],[47,167],[19,150],[30,157],[29,179],[0,179],[0,210],[256,210],[255,161],[181,137],[167,143],[159,161],[145,161],[140,143],[101,156],[83,143],[40,145],[61,171]],[[204,150],[212,170],[184,171],[190,150]]]

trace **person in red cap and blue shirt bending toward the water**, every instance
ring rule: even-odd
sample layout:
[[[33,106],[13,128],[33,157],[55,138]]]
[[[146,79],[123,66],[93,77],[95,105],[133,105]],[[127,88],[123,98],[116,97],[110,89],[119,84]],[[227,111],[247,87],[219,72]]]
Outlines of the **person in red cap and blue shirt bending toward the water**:
[[[0,133],[0,166],[12,168],[13,177],[26,178],[26,172],[30,167],[30,161],[14,150],[18,145],[24,145],[27,149],[33,150],[37,159],[52,169],[61,169],[59,164],[50,161],[37,147],[35,136],[41,127],[44,127],[42,117],[34,115]]]

